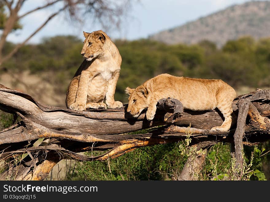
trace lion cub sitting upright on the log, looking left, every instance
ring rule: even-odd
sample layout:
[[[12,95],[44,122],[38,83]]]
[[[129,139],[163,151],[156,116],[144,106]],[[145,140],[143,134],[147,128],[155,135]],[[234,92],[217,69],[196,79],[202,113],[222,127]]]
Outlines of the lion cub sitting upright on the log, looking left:
[[[122,63],[121,55],[102,30],[83,32],[85,40],[81,54],[85,58],[72,78],[66,95],[67,108],[83,111],[122,107],[114,101],[116,83]],[[103,103],[106,98],[106,104]]]

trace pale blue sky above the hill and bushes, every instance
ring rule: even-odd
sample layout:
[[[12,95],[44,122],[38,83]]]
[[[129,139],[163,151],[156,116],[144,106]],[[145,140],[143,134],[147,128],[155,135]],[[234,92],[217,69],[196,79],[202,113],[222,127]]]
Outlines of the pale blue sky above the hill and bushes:
[[[31,8],[43,5],[44,0],[28,0],[20,10],[20,14],[25,13]],[[117,30],[112,27],[110,30],[104,30],[98,23],[91,20],[85,20],[84,23],[72,22],[66,18],[64,13],[53,18],[48,24],[39,31],[29,42],[38,43],[44,37],[55,35],[75,35],[83,40],[83,30],[91,32],[103,29],[111,38],[122,38],[134,40],[147,38],[150,34],[161,30],[169,29],[186,22],[196,20],[213,12],[223,10],[233,4],[241,4],[247,0],[141,0],[139,3],[133,0],[133,8],[125,20],[122,28]],[[37,11],[20,22],[23,25],[22,30],[10,34],[9,41],[22,42],[28,37],[34,29],[40,26],[48,15],[57,10],[57,6]],[[88,21],[88,22],[87,22]],[[90,22],[89,22],[90,21]]]

